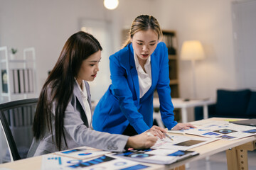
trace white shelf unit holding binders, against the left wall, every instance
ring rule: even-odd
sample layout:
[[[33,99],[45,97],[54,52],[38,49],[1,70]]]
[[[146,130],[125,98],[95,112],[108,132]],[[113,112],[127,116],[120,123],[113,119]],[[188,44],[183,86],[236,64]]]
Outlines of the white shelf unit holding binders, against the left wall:
[[[23,58],[9,57],[8,48],[0,47],[0,103],[36,97],[36,52],[23,49]]]

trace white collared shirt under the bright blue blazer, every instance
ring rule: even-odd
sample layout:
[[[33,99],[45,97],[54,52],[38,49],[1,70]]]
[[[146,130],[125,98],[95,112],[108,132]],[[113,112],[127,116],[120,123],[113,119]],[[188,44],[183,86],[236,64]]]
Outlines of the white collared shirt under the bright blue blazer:
[[[149,90],[152,84],[152,78],[151,78],[151,56],[146,60],[146,64],[144,65],[146,72],[142,69],[142,66],[139,64],[138,57],[136,53],[134,52],[134,61],[135,66],[138,72],[138,78],[139,78],[139,98],[142,98],[144,94],[146,94],[146,91]]]

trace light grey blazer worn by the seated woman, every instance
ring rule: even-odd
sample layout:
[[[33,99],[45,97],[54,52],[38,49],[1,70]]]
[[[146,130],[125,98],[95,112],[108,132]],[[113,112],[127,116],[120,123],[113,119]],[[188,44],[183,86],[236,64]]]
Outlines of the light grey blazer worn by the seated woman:
[[[90,88],[87,81],[85,86],[88,94],[88,102],[91,107]],[[53,107],[54,108],[54,107]],[[55,128],[54,128],[54,109],[52,111],[52,125],[53,125],[53,138],[52,135],[46,130],[45,135],[41,140],[33,138],[31,148],[28,151],[28,157],[38,156],[41,154],[48,154],[58,152],[55,145]],[[62,140],[61,150],[72,149],[74,147],[94,147],[107,151],[120,152],[124,150],[127,144],[128,136],[114,135],[107,132],[97,132],[92,130],[88,125],[85,107],[82,103],[82,97],[78,84],[74,83],[74,91],[71,96],[68,107],[65,110],[64,118],[64,133],[68,147],[65,146],[64,139]]]

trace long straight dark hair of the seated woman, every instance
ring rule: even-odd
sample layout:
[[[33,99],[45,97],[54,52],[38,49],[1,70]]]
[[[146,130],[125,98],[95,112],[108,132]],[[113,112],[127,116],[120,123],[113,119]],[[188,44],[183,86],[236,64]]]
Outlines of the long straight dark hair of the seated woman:
[[[82,31],[71,35],[65,42],[60,57],[46,79],[38,99],[36,115],[33,121],[33,135],[36,140],[43,137],[46,128],[53,136],[51,111],[55,108],[56,145],[60,150],[63,137],[65,145],[68,146],[63,130],[64,114],[73,94],[74,81],[78,77],[82,61],[99,50],[102,50],[100,42],[89,33]],[[49,87],[52,91],[49,91]],[[54,107],[53,103],[55,103]]]

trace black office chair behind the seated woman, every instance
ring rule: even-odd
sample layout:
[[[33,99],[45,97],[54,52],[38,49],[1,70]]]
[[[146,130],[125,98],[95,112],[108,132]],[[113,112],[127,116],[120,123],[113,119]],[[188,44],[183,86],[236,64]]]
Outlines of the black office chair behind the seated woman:
[[[28,98],[0,104],[0,120],[11,162],[24,159],[28,154],[33,140],[32,125],[37,103],[38,98]]]

